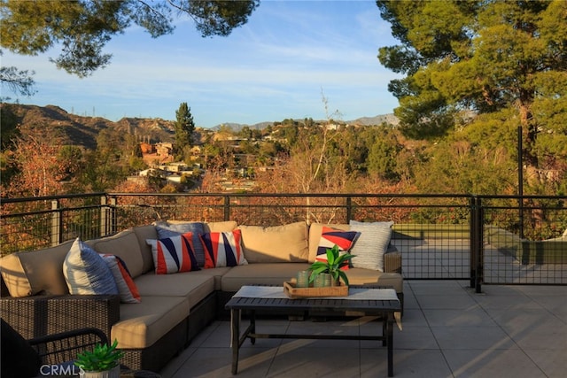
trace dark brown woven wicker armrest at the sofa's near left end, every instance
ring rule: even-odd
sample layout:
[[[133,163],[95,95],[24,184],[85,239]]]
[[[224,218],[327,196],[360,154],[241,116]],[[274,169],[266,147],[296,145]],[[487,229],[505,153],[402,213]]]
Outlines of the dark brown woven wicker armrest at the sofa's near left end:
[[[27,339],[77,328],[98,328],[110,338],[120,320],[120,296],[2,297],[0,316]]]

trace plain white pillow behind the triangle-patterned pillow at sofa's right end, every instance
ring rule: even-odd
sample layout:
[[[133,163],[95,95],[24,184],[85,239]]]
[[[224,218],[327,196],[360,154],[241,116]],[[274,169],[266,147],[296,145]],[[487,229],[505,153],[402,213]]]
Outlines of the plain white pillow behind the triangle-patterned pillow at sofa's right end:
[[[350,253],[353,267],[378,270],[384,272],[384,253],[390,244],[393,222],[349,222],[351,231],[357,231],[360,236],[354,242]]]

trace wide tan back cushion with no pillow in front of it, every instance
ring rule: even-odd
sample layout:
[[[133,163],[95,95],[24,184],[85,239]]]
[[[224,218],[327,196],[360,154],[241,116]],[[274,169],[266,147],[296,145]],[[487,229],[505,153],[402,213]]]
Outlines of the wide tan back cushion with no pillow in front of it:
[[[307,223],[263,228],[239,226],[249,263],[307,262]]]

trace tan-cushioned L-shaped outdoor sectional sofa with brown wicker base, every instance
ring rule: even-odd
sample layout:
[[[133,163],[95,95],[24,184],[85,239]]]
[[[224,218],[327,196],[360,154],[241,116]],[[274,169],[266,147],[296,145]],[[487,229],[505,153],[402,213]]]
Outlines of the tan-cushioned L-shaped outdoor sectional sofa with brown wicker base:
[[[198,243],[201,241],[198,235],[237,235],[244,252],[240,258],[245,258],[247,264],[205,269],[203,266],[207,262],[201,254],[196,258],[198,271],[156,274],[154,257],[157,250],[152,252],[148,240],[180,235],[175,231],[184,232],[183,227],[187,225],[202,227],[202,234],[185,234],[192,238],[194,250],[205,247]],[[351,228],[362,229],[351,250],[354,254],[358,250],[361,255],[357,257],[358,262],[353,259],[353,266],[370,264],[372,267],[377,262],[380,267],[384,264],[384,273],[374,268],[350,267],[346,271],[350,283],[393,287],[403,308],[400,253],[395,249],[391,251],[390,234],[375,235],[370,232],[372,225],[297,222],[261,228],[238,226],[234,221],[169,221],[129,228],[117,235],[85,242],[100,254],[121,258],[136,284],[139,303],[123,303],[119,295],[69,294],[63,266],[78,242],[69,241],[41,251],[16,252],[0,259],[3,278],[0,316],[26,338],[74,328],[102,329],[109,340],[117,339],[120,349],[125,351],[123,365],[159,372],[209,322],[226,316],[225,303],[242,285],[282,285],[315,261],[318,248],[324,247],[323,233],[329,235],[330,231],[332,234]],[[335,243],[335,236],[329,236],[326,243]],[[389,251],[385,251],[388,245]],[[218,253],[224,252],[219,250]],[[196,268],[195,262],[195,259],[190,261],[191,268]],[[162,263],[158,262],[159,266]]]

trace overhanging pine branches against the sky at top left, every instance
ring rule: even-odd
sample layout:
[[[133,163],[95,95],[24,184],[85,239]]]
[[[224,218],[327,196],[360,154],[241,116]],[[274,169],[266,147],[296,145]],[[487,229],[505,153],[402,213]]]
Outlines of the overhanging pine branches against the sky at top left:
[[[50,61],[85,77],[110,63],[112,55],[103,52],[106,42],[132,24],[157,38],[173,32],[172,14],[178,12],[194,19],[204,37],[227,36],[244,25],[259,4],[259,0],[4,0],[0,4],[0,45],[22,55],[61,46],[58,58]]]

